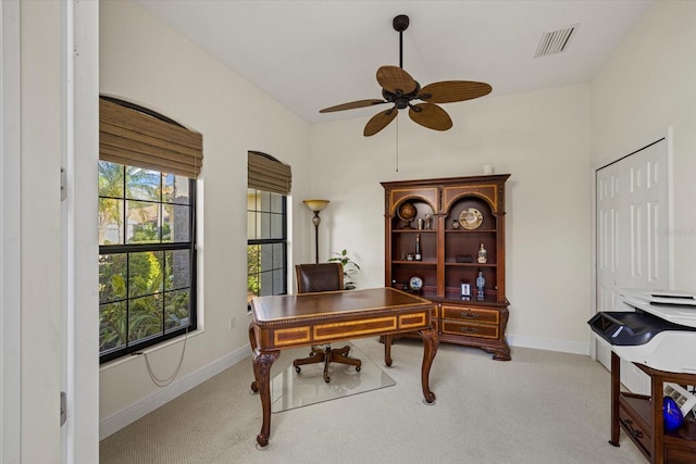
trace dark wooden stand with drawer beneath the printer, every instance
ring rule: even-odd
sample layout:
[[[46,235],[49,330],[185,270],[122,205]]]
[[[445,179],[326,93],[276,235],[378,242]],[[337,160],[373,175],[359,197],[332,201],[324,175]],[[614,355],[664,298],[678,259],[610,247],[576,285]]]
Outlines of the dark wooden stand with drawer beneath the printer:
[[[636,394],[621,391],[621,360],[611,353],[611,439],[610,444],[619,447],[621,429],[626,432],[636,447],[650,463],[693,464],[696,462],[696,437],[684,436],[687,428],[695,429],[694,424],[687,427],[686,421],[682,429],[666,431],[662,419],[662,398],[664,383],[682,386],[696,385],[696,374],[678,374],[654,369],[634,363],[650,377],[650,391]]]

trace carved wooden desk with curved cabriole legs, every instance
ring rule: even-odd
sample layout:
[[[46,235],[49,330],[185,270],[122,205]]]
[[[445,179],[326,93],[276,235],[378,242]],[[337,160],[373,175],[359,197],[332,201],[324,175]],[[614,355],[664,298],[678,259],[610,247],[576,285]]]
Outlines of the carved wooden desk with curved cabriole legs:
[[[421,384],[425,401],[435,401],[428,376],[437,352],[431,326],[433,303],[394,288],[257,297],[251,300],[249,341],[253,355],[251,390],[261,396],[263,424],[257,436],[265,447],[271,436],[271,366],[281,350],[353,338],[386,336],[384,362],[391,365],[394,334],[418,331],[423,338]]]

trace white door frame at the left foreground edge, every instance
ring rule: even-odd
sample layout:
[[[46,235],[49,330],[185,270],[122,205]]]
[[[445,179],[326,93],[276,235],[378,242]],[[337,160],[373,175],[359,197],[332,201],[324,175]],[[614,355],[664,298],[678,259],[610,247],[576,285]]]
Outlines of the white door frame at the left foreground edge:
[[[88,464],[99,462],[99,2],[61,2],[61,462]]]

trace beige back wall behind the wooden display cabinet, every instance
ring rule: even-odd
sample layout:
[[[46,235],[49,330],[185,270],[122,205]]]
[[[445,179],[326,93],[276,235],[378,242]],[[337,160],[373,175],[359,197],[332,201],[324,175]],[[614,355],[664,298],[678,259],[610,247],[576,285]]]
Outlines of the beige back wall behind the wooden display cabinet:
[[[510,173],[507,186],[509,339],[587,352],[589,317],[589,93],[577,85],[445,105],[453,128],[438,133],[399,115],[365,138],[369,116],[311,129],[312,188],[323,254],[347,248],[360,287],[384,284],[383,180]],[[512,353],[514,359],[514,351]]]

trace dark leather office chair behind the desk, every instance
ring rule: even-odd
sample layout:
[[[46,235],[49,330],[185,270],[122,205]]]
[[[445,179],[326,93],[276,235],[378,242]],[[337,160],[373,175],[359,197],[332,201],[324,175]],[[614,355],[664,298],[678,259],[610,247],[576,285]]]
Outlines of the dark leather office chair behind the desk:
[[[333,291],[344,289],[344,266],[340,263],[321,264],[297,264],[295,266],[297,276],[297,292],[313,293],[318,291]],[[309,358],[293,361],[295,371],[299,374],[301,365],[324,363],[324,381],[330,383],[328,364],[340,363],[356,366],[360,371],[362,365],[360,360],[348,358],[350,347],[346,346],[333,350],[330,344],[323,347],[312,347]]]

